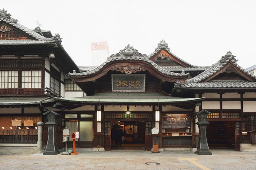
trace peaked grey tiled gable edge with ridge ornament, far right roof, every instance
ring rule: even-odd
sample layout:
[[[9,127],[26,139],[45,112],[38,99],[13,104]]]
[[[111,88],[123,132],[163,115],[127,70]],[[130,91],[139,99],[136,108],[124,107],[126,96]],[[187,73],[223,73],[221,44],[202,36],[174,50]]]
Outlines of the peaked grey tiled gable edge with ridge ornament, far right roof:
[[[254,75],[254,74],[246,71],[242,67],[240,67],[236,63],[237,60],[236,60],[235,57],[236,56],[233,56],[232,53],[229,51],[229,52],[227,52],[227,54],[225,56],[222,56],[221,60],[219,60],[217,63],[215,63],[212,66],[210,66],[207,70],[205,70],[201,74],[198,74],[194,78],[188,79],[185,82],[186,83],[190,83],[190,82],[199,83],[199,82],[202,82],[203,80],[207,79],[208,77],[210,77],[211,75],[213,75],[214,73],[216,73],[217,71],[222,69],[224,66],[226,66],[226,64],[228,62],[232,62],[238,69],[240,69],[242,72],[244,72],[245,74],[247,74],[248,76],[250,76],[250,77],[252,77],[252,78],[254,78],[256,80],[256,75]]]

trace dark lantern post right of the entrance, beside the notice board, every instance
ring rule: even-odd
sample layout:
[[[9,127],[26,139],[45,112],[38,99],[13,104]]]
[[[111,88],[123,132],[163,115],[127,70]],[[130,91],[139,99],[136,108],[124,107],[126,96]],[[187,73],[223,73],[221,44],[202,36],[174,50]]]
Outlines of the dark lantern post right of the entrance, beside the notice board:
[[[198,141],[198,146],[195,154],[198,155],[212,155],[212,153],[209,151],[209,146],[207,143],[207,138],[206,138],[206,127],[209,122],[206,121],[207,115],[212,114],[208,112],[207,110],[203,109],[200,112],[197,112],[194,115],[197,115],[198,122],[196,123],[199,128],[199,141]]]

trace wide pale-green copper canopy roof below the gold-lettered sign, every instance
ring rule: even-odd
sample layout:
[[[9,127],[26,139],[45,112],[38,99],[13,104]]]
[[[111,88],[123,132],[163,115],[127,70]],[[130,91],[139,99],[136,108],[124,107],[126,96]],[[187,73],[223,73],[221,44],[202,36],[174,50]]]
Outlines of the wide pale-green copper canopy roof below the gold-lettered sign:
[[[204,100],[204,98],[179,98],[162,94],[97,94],[77,98],[56,98],[59,102],[70,103],[184,103]]]

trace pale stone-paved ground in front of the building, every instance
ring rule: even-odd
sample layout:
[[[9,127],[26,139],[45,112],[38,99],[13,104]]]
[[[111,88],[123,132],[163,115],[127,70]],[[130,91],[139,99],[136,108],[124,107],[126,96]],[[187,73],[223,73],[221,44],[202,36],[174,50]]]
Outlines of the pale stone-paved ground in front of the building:
[[[78,155],[0,155],[0,169],[256,169],[256,152],[84,152]],[[145,165],[157,162],[160,165]]]

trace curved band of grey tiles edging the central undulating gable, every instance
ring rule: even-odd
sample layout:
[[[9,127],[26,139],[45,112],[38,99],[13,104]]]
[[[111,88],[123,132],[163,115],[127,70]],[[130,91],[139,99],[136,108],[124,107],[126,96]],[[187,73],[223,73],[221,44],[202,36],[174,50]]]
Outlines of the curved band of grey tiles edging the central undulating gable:
[[[94,74],[98,71],[100,71],[100,69],[106,65],[109,62],[113,62],[113,61],[118,61],[118,60],[138,60],[138,61],[145,61],[150,63],[152,66],[155,67],[156,70],[158,70],[159,72],[163,73],[163,74],[167,74],[167,75],[173,75],[173,76],[184,76],[184,75],[189,75],[189,73],[186,73],[184,71],[182,71],[182,73],[174,73],[168,70],[165,70],[161,67],[159,67],[156,63],[154,63],[153,61],[149,60],[147,57],[144,56],[112,56],[109,60],[105,61],[104,63],[102,63],[100,66],[89,70],[89,71],[85,71],[85,72],[81,72],[81,73],[76,73],[75,70],[73,71],[73,73],[69,73],[69,75],[72,76],[80,76],[80,75],[89,75],[89,74]]]

